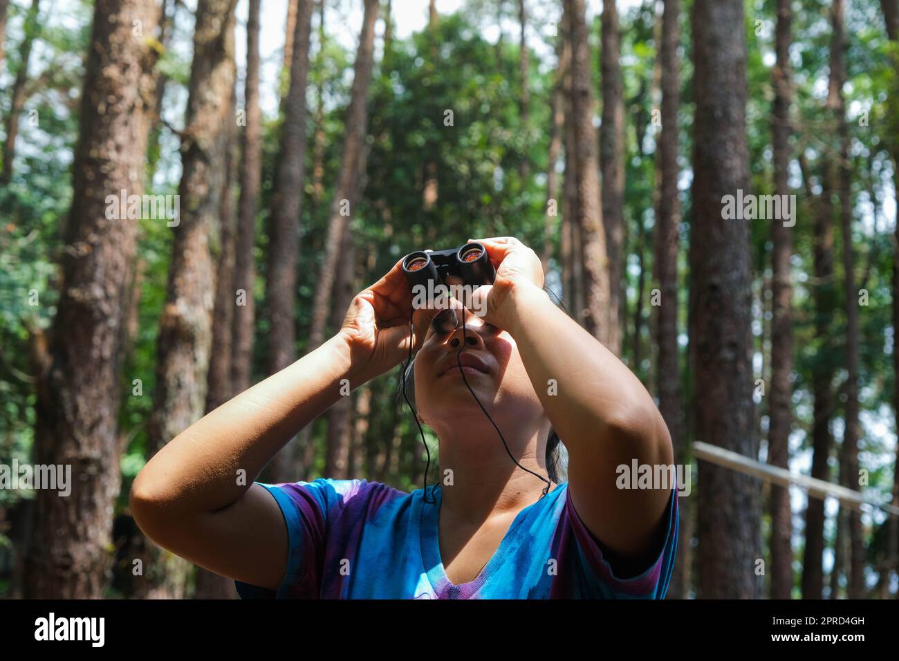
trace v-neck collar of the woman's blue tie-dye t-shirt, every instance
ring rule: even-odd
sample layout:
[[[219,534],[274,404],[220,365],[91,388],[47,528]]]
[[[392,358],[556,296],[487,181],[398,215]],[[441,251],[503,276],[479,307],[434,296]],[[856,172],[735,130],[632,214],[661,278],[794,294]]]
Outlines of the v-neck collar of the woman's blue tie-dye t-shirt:
[[[549,491],[544,498],[552,495],[556,492],[557,489],[564,487],[565,483],[557,484],[556,488],[552,491]],[[515,531],[521,525],[521,522],[524,521],[525,516],[528,514],[528,511],[534,505],[538,505],[540,500],[537,500],[530,505],[525,505],[521,508],[518,514],[515,515],[515,518],[512,519],[512,523],[509,525],[509,529],[503,535],[503,539],[500,541],[498,547],[494,551],[494,555],[487,560],[487,564],[481,569],[477,576],[471,581],[467,583],[460,583],[458,585],[454,584],[449,580],[449,577],[446,574],[446,568],[443,567],[443,560],[441,558],[441,547],[440,547],[440,512],[441,512],[441,502],[442,502],[442,491],[441,486],[434,485],[433,487],[428,487],[426,492],[423,494],[427,494],[431,496],[431,499],[435,501],[434,503],[425,503],[423,496],[418,498],[418,506],[419,516],[418,520],[420,522],[419,525],[419,536],[421,540],[421,557],[422,557],[422,565],[425,573],[428,576],[428,581],[431,584],[431,587],[434,591],[434,594],[438,599],[469,599],[474,596],[477,591],[485,584],[488,578],[494,574],[494,571],[497,569],[499,564],[503,560],[503,556],[505,555],[506,547],[508,547],[509,543],[512,540],[512,537],[515,534]]]

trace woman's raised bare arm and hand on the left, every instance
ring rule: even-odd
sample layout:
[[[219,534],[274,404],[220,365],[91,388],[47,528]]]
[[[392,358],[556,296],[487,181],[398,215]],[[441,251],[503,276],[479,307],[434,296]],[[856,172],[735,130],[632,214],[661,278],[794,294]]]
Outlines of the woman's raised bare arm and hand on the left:
[[[130,507],[148,537],[222,576],[278,588],[287,569],[287,526],[274,497],[254,480],[342,390],[405,358],[413,309],[400,264],[353,299],[337,335],[191,424],[147,462]],[[415,311],[414,344],[433,314]]]

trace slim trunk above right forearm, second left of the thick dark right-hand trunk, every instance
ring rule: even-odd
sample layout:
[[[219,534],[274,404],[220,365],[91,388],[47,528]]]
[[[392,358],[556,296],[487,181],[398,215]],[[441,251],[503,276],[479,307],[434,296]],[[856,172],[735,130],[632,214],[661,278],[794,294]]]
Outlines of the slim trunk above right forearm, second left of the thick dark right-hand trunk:
[[[624,323],[624,100],[621,81],[621,42],[615,0],[602,3],[602,224],[606,228],[609,254],[609,335],[606,346],[621,353],[621,324]]]

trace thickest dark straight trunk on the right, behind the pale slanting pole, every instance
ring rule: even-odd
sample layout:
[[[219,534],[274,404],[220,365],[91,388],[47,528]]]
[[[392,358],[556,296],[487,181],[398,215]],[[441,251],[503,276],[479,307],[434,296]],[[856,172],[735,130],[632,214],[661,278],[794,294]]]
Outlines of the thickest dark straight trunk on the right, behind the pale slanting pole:
[[[742,0],[693,4],[690,364],[696,438],[754,459],[749,223],[722,212],[725,195],[749,188],[743,25]],[[704,462],[699,472],[698,595],[755,598],[758,481]]]

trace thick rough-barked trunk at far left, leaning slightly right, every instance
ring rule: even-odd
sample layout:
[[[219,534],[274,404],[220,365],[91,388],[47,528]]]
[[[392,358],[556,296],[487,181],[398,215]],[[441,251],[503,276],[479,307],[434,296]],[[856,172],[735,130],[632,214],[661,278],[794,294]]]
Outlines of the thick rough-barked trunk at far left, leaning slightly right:
[[[152,31],[158,15],[153,0],[94,6],[64,285],[49,363],[39,375],[34,445],[38,463],[71,466],[74,484],[70,497],[38,490],[27,560],[31,598],[99,599],[109,582],[111,510],[121,479],[120,348],[138,224],[127,215],[110,218],[107,196],[143,193],[156,52],[133,38],[132,21]]]

